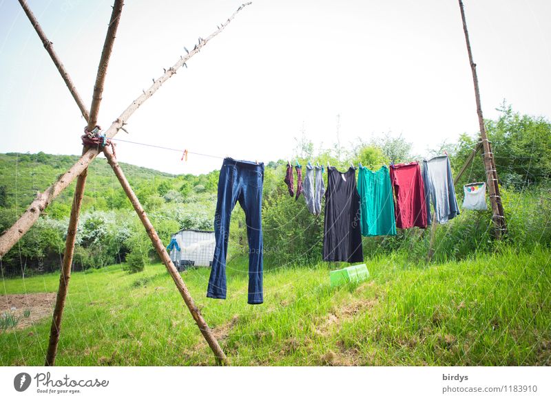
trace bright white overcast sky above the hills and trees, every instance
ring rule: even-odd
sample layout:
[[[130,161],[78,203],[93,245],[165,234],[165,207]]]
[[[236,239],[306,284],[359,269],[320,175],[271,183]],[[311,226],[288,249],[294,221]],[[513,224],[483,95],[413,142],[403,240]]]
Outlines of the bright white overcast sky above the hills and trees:
[[[551,116],[551,1],[465,0],[486,118],[503,98]],[[29,1],[87,104],[111,1]],[[183,46],[239,1],[127,1],[99,123],[107,128]],[[238,159],[287,158],[392,131],[424,154],[478,130],[457,0],[254,0],[160,88],[118,138]],[[80,154],[84,120],[16,0],[0,0],[0,152]],[[123,162],[203,173],[221,160],[119,144]]]

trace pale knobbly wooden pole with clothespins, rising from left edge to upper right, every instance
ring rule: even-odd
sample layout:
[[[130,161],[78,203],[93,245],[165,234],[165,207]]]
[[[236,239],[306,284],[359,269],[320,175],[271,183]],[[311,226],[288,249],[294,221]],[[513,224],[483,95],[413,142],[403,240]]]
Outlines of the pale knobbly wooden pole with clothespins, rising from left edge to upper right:
[[[172,67],[167,69],[165,71],[165,74],[160,76],[160,78],[154,79],[153,84],[147,91],[143,91],[143,94],[136,98],[130,104],[119,117],[114,120],[112,125],[110,126],[107,131],[105,131],[105,135],[107,137],[114,137],[118,131],[123,128],[124,124],[126,124],[127,120],[130,118],[130,116],[151,96],[153,96],[153,93],[155,93],[163,83],[171,78],[174,74],[176,74],[176,70],[183,67],[187,60],[197,54],[200,49],[202,49],[203,46],[205,46],[208,41],[211,38],[214,38],[214,36],[218,35],[222,30],[225,29],[225,27],[233,20],[233,18],[236,16],[236,14],[245,8],[246,5],[249,5],[251,3],[245,3],[238,8],[236,12],[234,12],[229,19],[225,23],[222,23],[220,27],[218,27],[218,30],[207,36],[206,39],[202,39],[196,47],[191,50],[188,54],[185,56],[180,57],[180,60],[176,64],[174,64]],[[97,148],[90,148],[86,151],[86,153],[79,159],[78,162],[74,164],[74,166],[71,167],[70,170],[67,171],[67,173],[61,175],[52,186],[47,188],[44,193],[39,193],[37,195],[37,198],[32,201],[30,207],[23,212],[23,214],[19,217],[19,219],[10,227],[8,230],[3,232],[2,236],[0,236],[0,258],[6,255],[8,251],[13,247],[17,241],[23,236],[28,230],[30,230],[30,227],[34,225],[34,223],[37,222],[37,219],[39,219],[40,213],[48,207],[48,205],[52,202],[53,199],[55,199],[61,191],[63,191],[67,186],[71,184],[76,177],[78,177],[85,168],[92,162],[92,160],[98,155],[99,151]]]

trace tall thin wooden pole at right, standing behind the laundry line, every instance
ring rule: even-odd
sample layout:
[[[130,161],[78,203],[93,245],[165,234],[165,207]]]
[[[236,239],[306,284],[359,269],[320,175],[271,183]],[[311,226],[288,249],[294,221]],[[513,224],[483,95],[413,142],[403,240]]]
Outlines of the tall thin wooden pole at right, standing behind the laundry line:
[[[484,169],[486,170],[486,181],[488,184],[488,194],[490,195],[490,204],[492,205],[492,221],[494,221],[494,236],[499,239],[506,233],[505,216],[503,214],[503,204],[499,193],[499,184],[497,181],[497,170],[495,168],[494,155],[488,142],[486,135],[486,126],[484,126],[484,118],[482,116],[482,106],[480,102],[480,90],[478,85],[477,65],[472,60],[472,51],[470,49],[469,33],[467,31],[467,23],[465,19],[465,10],[463,1],[459,0],[459,9],[461,10],[461,20],[463,21],[463,31],[465,33],[465,41],[467,44],[467,52],[469,55],[470,69],[472,71],[472,82],[475,85],[475,99],[477,101],[477,114],[480,127],[480,139],[484,153]]]

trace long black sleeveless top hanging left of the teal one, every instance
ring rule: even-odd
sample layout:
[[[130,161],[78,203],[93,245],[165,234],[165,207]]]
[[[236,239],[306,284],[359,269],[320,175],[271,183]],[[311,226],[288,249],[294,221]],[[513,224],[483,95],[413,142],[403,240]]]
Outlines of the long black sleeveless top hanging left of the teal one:
[[[327,168],[323,259],[348,263],[364,260],[360,195],[356,189],[354,168],[349,168],[346,173],[333,166]]]

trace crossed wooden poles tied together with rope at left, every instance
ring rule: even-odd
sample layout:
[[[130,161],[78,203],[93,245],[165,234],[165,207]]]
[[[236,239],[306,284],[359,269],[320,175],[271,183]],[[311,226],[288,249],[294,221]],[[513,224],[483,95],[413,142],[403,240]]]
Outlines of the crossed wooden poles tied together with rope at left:
[[[19,3],[21,3],[21,7],[25,11],[25,14],[27,14],[30,22],[32,23],[32,26],[34,27],[34,30],[37,31],[37,34],[39,35],[46,51],[48,52],[48,54],[50,54],[50,57],[56,65],[59,74],[61,74],[61,78],[63,78],[63,80],[65,81],[65,85],[67,85],[67,88],[72,94],[74,101],[81,110],[83,118],[87,122],[86,130],[92,131],[97,124],[99,106],[101,104],[101,95],[103,93],[103,83],[105,82],[105,74],[107,73],[107,66],[109,65],[109,59],[113,49],[113,43],[116,36],[116,30],[118,28],[118,22],[121,19],[121,12],[123,10],[124,1],[114,0],[113,11],[111,14],[109,26],[107,27],[107,34],[105,36],[105,42],[103,44],[103,50],[101,52],[101,58],[96,74],[96,82],[94,84],[94,94],[92,96],[92,105],[90,106],[90,111],[87,110],[81,96],[79,95],[78,91],[76,91],[76,87],[74,87],[74,83],[72,82],[71,77],[65,70],[65,67],[63,67],[63,63],[61,63],[61,60],[54,51],[52,42],[50,42],[46,37],[41,26],[39,25],[39,22],[37,21],[37,18],[30,10],[27,2],[25,0],[19,0]],[[222,23],[222,25],[218,26],[218,29],[207,36],[207,38],[199,38],[199,42],[194,47],[194,49],[192,49],[191,51],[188,51],[186,49],[187,54],[185,56],[180,56],[180,59],[176,62],[176,64],[174,64],[172,67],[169,67],[169,69],[165,69],[165,74],[163,74],[163,76],[160,76],[160,78],[154,79],[153,84],[149,87],[149,89],[143,91],[143,94],[136,98],[136,100],[134,100],[132,104],[130,104],[127,109],[125,109],[125,111],[123,111],[123,113],[121,113],[121,115],[119,115],[119,117],[114,120],[109,129],[105,131],[105,137],[107,139],[114,137],[114,135],[118,133],[119,129],[124,129],[123,126],[127,122],[128,118],[130,118],[130,116],[134,113],[134,111],[136,111],[138,107],[140,107],[141,104],[145,102],[145,100],[153,96],[157,89],[159,89],[166,80],[176,74],[176,71],[180,67],[185,65],[186,61],[189,60],[189,58],[200,52],[200,49],[205,46],[211,40],[211,38],[214,38],[214,36],[222,32],[222,30],[224,30],[225,27],[233,20],[236,14],[249,4],[251,3],[249,2],[240,5],[240,7],[235,12],[233,12],[233,14],[231,14],[229,19]],[[74,192],[72,209],[69,219],[69,227],[67,229],[65,254],[63,256],[61,276],[59,278],[59,289],[57,292],[56,305],[52,318],[52,326],[50,329],[50,342],[48,344],[48,352],[46,353],[45,366],[53,366],[55,364],[57,346],[59,342],[59,333],[61,330],[61,320],[63,317],[63,308],[65,307],[65,298],[67,297],[67,289],[71,277],[71,265],[74,253],[76,228],[79,224],[79,214],[81,211],[83,192],[86,184],[87,167],[94,160],[94,158],[96,158],[100,151],[103,151],[103,154],[107,158],[107,162],[109,162],[118,181],[121,183],[121,186],[123,186],[123,190],[132,203],[134,210],[136,210],[136,213],[138,214],[141,222],[143,223],[143,226],[145,227],[145,230],[147,231],[147,234],[149,235],[149,238],[151,239],[160,259],[163,261],[165,267],[167,267],[167,271],[174,280],[174,283],[176,284],[178,291],[182,295],[182,298],[184,299],[184,302],[187,305],[189,312],[193,316],[199,327],[199,330],[201,331],[202,335],[205,337],[205,340],[207,340],[207,343],[213,351],[214,356],[216,357],[217,364],[227,364],[227,357],[222,351],[222,348],[220,348],[218,340],[216,340],[216,337],[214,337],[214,335],[212,334],[209,326],[207,325],[207,322],[205,322],[205,320],[202,318],[202,315],[199,309],[196,307],[193,298],[191,298],[191,295],[182,277],[180,276],[180,274],[178,274],[176,267],[174,267],[174,264],[172,263],[167,253],[167,250],[165,249],[165,246],[160,241],[160,238],[158,237],[158,234],[152,223],[149,221],[145,210],[143,210],[143,207],[138,200],[138,197],[136,197],[136,195],[134,194],[134,190],[132,190],[132,187],[128,183],[123,173],[123,170],[121,169],[121,166],[118,165],[113,151],[109,146],[84,146],[83,155],[81,156],[79,161],[76,162],[74,166],[72,166],[70,170],[68,170],[65,174],[61,175],[61,177],[59,177],[54,182],[54,184],[52,184],[52,186],[47,188],[43,193],[38,193],[36,199],[32,201],[29,208],[25,210],[19,220],[17,220],[17,222],[14,223],[14,225],[12,225],[10,229],[6,230],[6,232],[4,232],[2,236],[0,236],[0,258],[2,258],[8,251],[10,251],[12,246],[17,243],[17,241],[19,241],[21,236],[23,236],[30,229],[30,227],[32,227],[32,225],[37,222],[41,212],[43,212],[43,210],[48,207],[48,205],[57,197],[57,195],[59,195],[59,193],[61,193],[65,188],[67,188],[67,186],[69,186],[69,184],[71,184],[72,181],[74,181],[74,179],[76,179],[76,189]]]

